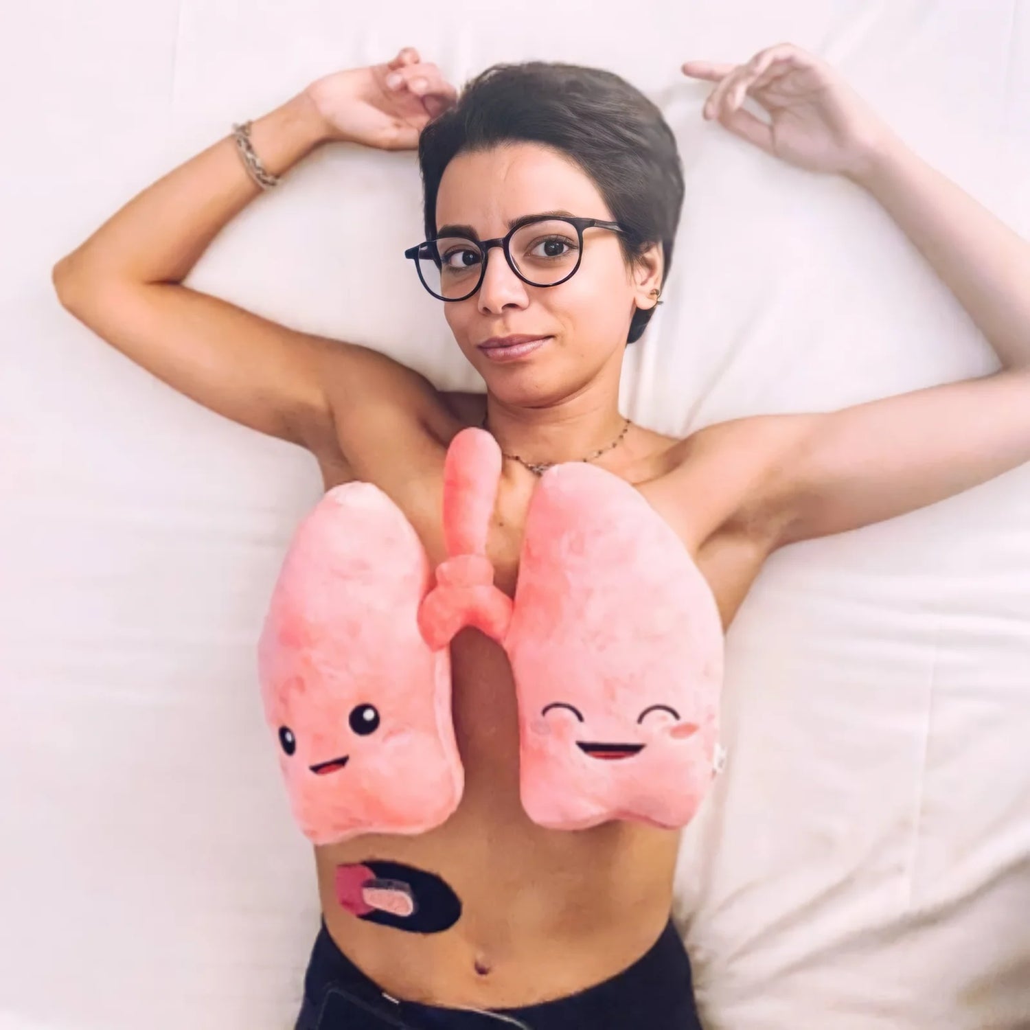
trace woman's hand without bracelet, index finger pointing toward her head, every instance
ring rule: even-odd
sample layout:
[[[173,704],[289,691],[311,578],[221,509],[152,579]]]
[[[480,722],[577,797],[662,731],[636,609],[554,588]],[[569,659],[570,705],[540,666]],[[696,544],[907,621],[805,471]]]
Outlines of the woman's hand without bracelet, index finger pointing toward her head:
[[[856,176],[888,135],[830,65],[793,43],[759,50],[743,65],[688,61],[682,70],[718,83],[705,103],[706,118],[800,168]],[[768,123],[744,110],[745,97],[768,112]]]

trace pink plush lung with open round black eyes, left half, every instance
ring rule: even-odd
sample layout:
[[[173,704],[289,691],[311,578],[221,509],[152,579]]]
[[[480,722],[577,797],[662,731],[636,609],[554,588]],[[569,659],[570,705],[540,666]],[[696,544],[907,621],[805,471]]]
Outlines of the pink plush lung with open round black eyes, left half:
[[[314,844],[419,833],[460,800],[450,653],[418,631],[432,582],[414,528],[371,483],[330,490],[294,536],[259,675],[294,815]]]

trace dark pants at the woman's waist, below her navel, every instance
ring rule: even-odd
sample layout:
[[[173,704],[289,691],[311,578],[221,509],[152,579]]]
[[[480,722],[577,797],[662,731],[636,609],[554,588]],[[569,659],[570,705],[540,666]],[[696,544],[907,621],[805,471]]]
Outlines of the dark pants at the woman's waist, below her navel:
[[[337,947],[324,921],[304,982],[297,1030],[700,1030],[690,961],[670,921],[654,946],[627,969],[553,1001],[490,1015],[397,1002]]]

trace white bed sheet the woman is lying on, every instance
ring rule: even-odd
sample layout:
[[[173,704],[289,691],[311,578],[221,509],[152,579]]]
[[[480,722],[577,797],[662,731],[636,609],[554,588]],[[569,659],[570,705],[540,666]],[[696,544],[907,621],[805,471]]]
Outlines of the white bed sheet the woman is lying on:
[[[231,122],[407,43],[458,82],[503,60],[606,66],[661,105],[687,180],[627,414],[687,433],[995,367],[868,197],[703,124],[678,69],[785,39],[819,53],[1030,235],[1023,0],[0,16],[0,1030],[285,1028],[298,1004],[313,866],[253,646],[316,470],[131,366],[48,279]],[[420,225],[413,154],[323,149],[190,281],[474,387],[399,256]],[[678,883],[709,1027],[1030,1026],[1030,468],[775,555],[730,629],[724,722]]]

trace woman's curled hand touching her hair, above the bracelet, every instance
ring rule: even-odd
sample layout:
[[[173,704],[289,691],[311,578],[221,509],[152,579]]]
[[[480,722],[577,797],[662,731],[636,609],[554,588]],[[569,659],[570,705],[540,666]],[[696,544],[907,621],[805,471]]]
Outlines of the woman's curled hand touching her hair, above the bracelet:
[[[325,75],[305,93],[329,139],[382,150],[414,149],[422,129],[457,99],[440,69],[411,46],[385,64]]]

